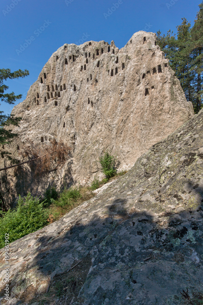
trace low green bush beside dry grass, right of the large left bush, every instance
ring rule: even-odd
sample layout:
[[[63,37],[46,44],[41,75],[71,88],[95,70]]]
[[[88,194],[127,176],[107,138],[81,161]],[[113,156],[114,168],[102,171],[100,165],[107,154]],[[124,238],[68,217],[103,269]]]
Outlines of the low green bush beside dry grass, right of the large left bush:
[[[71,205],[78,198],[82,198],[82,195],[80,193],[80,187],[71,187],[61,192],[60,197],[54,201],[54,205],[61,207]]]

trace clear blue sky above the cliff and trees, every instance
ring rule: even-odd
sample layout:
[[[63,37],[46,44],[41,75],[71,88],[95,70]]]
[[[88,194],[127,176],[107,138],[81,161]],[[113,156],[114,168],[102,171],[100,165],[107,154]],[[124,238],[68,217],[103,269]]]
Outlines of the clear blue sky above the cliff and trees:
[[[30,71],[28,77],[7,81],[8,92],[23,94],[16,104],[23,101],[44,64],[65,43],[114,40],[120,49],[139,30],[160,29],[166,34],[169,29],[176,31],[183,17],[193,24],[200,3],[201,0],[1,0],[0,67]],[[20,49],[23,44],[27,44],[24,50]],[[1,102],[0,110],[10,114],[13,106]]]

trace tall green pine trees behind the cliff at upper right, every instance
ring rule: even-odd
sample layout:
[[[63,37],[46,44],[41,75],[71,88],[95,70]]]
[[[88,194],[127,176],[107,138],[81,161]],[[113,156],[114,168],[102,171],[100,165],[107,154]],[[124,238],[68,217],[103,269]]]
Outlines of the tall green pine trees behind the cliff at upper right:
[[[177,34],[169,30],[166,36],[162,36],[160,30],[157,32],[157,43],[169,59],[170,66],[196,113],[203,107],[203,2],[199,7],[192,28],[182,18],[182,23],[177,26]]]

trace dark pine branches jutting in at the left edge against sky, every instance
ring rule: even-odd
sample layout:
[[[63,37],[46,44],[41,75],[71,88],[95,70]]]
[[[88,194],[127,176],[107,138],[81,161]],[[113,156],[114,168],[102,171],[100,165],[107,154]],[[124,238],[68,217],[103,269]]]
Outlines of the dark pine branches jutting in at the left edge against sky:
[[[16,102],[17,99],[21,99],[22,97],[21,94],[15,95],[14,92],[4,93],[4,91],[9,88],[4,84],[4,81],[6,81],[8,78],[14,79],[19,77],[25,77],[27,75],[29,75],[28,70],[25,71],[17,70],[11,72],[10,69],[0,69],[0,100],[8,104],[14,104],[14,102]],[[3,111],[0,111],[0,126],[2,127],[0,128],[0,144],[5,144],[8,143],[9,139],[14,138],[16,134],[13,134],[11,130],[5,130],[3,127],[9,126],[10,124],[17,126],[21,118],[14,117],[13,115],[6,116],[2,113]]]

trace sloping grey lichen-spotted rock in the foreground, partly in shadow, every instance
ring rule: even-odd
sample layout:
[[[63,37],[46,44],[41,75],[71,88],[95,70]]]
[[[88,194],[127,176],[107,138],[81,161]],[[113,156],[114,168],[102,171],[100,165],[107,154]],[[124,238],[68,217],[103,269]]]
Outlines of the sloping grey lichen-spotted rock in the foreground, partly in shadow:
[[[10,289],[36,305],[79,263],[74,305],[183,304],[183,290],[203,291],[202,173],[203,110],[94,198],[10,244]],[[4,249],[0,259],[3,295]]]

